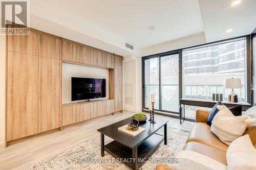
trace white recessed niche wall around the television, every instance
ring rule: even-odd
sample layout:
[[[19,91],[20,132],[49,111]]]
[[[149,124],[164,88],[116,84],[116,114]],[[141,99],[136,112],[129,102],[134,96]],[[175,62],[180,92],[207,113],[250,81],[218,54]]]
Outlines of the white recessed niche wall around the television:
[[[109,70],[62,63],[62,104],[71,101],[71,77],[106,79],[106,98],[109,98]],[[77,102],[77,101],[73,101]],[[80,101],[81,102],[81,101]]]

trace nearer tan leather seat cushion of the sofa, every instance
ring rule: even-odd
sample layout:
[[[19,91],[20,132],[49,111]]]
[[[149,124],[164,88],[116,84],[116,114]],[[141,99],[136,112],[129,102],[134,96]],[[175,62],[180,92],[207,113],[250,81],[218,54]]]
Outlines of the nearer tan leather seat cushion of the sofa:
[[[211,159],[217,160],[218,162],[227,165],[226,152],[209,145],[199,142],[188,142],[186,143],[184,150],[194,151],[203,154]]]

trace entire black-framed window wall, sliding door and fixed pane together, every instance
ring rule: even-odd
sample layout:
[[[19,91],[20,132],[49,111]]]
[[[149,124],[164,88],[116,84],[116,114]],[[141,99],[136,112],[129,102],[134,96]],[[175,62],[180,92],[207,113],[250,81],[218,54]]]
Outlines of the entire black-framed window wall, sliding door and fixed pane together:
[[[148,108],[151,93],[157,110],[173,113],[179,111],[180,98],[212,100],[212,93],[219,93],[227,101],[231,89],[224,88],[224,81],[230,78],[241,79],[242,88],[234,92],[240,102],[250,102],[248,43],[246,36],[143,57],[142,107]],[[186,116],[194,118],[196,109],[187,106]]]

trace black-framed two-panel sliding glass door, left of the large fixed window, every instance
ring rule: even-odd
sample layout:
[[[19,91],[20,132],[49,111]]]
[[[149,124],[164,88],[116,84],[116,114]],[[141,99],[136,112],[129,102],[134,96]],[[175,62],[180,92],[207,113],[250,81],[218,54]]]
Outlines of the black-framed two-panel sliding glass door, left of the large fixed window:
[[[154,108],[159,111],[179,111],[179,53],[143,59],[144,108],[155,94]]]

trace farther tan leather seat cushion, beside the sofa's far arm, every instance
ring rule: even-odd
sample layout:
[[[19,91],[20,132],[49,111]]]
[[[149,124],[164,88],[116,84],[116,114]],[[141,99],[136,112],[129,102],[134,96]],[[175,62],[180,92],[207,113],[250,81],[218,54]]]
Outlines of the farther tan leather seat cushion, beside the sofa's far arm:
[[[220,139],[210,131],[210,126],[206,123],[196,123],[192,128],[188,138],[188,142],[199,142],[211,147],[218,148],[222,151],[227,151],[228,145],[220,141]]]

